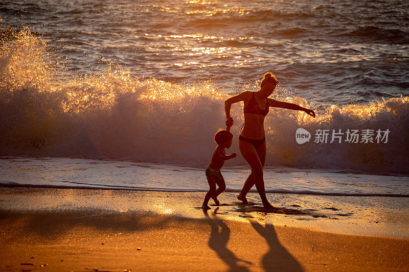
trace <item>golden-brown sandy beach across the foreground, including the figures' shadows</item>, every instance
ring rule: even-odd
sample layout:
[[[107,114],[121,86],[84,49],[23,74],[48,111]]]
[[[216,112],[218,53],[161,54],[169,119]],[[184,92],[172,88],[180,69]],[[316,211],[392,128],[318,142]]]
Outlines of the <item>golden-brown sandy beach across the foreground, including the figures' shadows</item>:
[[[202,193],[3,187],[0,199],[2,271],[409,269],[408,239],[270,224],[229,194],[207,213]],[[282,212],[296,216],[269,215]]]

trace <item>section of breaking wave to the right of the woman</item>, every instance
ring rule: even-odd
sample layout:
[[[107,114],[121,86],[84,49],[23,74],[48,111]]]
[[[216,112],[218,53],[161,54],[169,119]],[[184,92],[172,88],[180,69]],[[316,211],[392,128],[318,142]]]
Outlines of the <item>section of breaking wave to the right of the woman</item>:
[[[302,98],[289,98],[306,106]],[[303,112],[276,109],[276,115],[268,116],[270,149],[267,164],[299,167],[348,168],[372,172],[408,172],[406,159],[409,156],[409,97],[373,101],[368,105],[348,105],[342,108],[332,105],[315,119],[306,118]],[[297,144],[295,132],[304,128],[312,134],[309,143]],[[347,130],[389,130],[388,142],[342,142],[331,143],[332,130],[346,133]],[[328,141],[315,143],[316,130],[329,130]],[[267,137],[268,139],[268,137]]]

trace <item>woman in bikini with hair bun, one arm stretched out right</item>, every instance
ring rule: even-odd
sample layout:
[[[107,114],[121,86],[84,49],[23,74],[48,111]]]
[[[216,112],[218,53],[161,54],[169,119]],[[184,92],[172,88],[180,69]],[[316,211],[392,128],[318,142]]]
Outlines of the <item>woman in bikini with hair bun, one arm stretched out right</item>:
[[[315,117],[313,110],[303,108],[297,104],[280,102],[268,98],[277,84],[278,81],[276,77],[270,72],[267,72],[261,81],[260,90],[257,92],[245,91],[230,97],[224,102],[224,110],[227,118],[226,126],[231,127],[233,125],[233,118],[230,116],[230,108],[232,104],[244,101],[244,128],[239,137],[239,149],[241,155],[243,155],[244,159],[252,167],[252,174],[246,179],[243,189],[241,189],[237,198],[244,204],[247,204],[246,194],[253,185],[256,185],[263,206],[267,209],[274,208],[267,200],[263,180],[263,167],[266,155],[264,117],[267,115],[269,107],[301,110]]]

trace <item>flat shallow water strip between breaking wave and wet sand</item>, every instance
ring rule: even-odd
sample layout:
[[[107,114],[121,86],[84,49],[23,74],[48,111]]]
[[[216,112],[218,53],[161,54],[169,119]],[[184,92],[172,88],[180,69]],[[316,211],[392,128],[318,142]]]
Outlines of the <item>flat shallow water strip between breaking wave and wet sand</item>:
[[[0,157],[0,185],[111,190],[207,192],[206,166],[73,158]],[[247,166],[222,169],[226,192],[238,194]],[[407,176],[334,169],[265,167],[267,194],[409,197]],[[255,187],[252,192],[257,192]],[[204,195],[204,193],[203,193]],[[253,196],[251,196],[253,198]],[[258,195],[254,200],[259,201]],[[301,200],[303,196],[299,197]],[[304,207],[305,208],[305,207]],[[409,206],[403,206],[409,209]]]

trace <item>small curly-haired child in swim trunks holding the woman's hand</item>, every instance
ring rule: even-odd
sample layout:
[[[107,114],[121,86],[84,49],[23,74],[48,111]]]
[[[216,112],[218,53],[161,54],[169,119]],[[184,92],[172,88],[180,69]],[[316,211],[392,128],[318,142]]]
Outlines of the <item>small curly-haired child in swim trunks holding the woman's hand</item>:
[[[219,201],[217,200],[217,196],[226,188],[223,176],[220,173],[220,169],[225,160],[236,158],[237,155],[236,152],[232,155],[226,155],[226,152],[224,151],[224,149],[229,149],[232,145],[233,134],[230,131],[219,130],[214,136],[214,140],[217,143],[217,146],[213,151],[210,164],[208,168],[206,168],[206,177],[208,178],[210,189],[206,193],[205,201],[203,201],[203,205],[201,206],[203,209],[210,209],[208,206],[210,197],[212,197],[216,203],[216,206],[220,205]],[[216,184],[219,186],[217,190]]]

